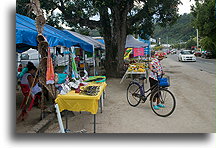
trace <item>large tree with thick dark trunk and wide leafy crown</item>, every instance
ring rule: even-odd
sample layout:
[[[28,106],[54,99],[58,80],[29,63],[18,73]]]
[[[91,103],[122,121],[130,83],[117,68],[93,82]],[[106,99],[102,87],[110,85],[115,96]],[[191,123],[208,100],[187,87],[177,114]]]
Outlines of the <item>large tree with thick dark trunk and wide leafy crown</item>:
[[[57,22],[100,31],[106,46],[107,76],[121,76],[124,72],[127,34],[145,39],[152,35],[154,23],[172,24],[178,17],[178,4],[180,0],[41,0],[53,26]],[[60,12],[54,15],[56,9]],[[100,19],[91,19],[95,15]]]

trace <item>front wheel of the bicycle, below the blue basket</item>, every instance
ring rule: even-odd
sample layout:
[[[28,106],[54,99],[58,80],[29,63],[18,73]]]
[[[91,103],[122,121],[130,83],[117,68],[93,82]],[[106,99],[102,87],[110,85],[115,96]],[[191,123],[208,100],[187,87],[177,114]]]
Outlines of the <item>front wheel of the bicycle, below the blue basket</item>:
[[[156,102],[160,102],[164,107],[159,107],[155,109],[153,105]],[[157,104],[157,103],[156,103]],[[160,88],[158,91],[153,92],[150,98],[151,109],[155,114],[160,117],[167,117],[173,113],[176,106],[176,101],[174,95],[167,89]]]

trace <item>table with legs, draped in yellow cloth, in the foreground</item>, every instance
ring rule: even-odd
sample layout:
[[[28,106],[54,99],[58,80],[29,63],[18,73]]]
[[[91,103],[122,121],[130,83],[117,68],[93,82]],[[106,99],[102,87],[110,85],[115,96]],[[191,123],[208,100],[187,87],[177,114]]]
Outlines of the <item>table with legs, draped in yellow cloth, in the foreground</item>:
[[[76,93],[75,90],[71,90],[65,95],[58,95],[58,97],[55,99],[56,105],[56,112],[59,114],[63,110],[68,111],[86,111],[90,112],[94,115],[94,133],[96,132],[96,114],[98,112],[98,104],[100,101],[100,109],[102,113],[102,107],[103,107],[103,99],[104,99],[104,91],[107,84],[105,82],[101,83],[89,83],[87,86],[81,87],[81,92]],[[95,94],[91,94],[91,92],[88,92],[90,90],[87,89],[97,88],[98,91]],[[60,131],[62,133],[65,132],[61,116],[58,116]],[[67,125],[67,124],[66,124]],[[66,128],[67,129],[67,128]]]

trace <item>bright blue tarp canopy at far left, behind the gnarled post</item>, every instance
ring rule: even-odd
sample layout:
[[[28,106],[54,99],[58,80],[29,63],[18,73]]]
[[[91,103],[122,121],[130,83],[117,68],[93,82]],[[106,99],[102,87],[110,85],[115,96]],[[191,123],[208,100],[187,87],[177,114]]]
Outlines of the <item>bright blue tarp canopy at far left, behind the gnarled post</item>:
[[[35,20],[29,17],[16,14],[16,50],[21,53],[30,47],[36,47],[38,33],[35,27]],[[76,37],[69,37],[62,30],[58,30],[52,26],[45,24],[43,35],[47,38],[50,47],[57,45],[70,48],[71,46],[79,46],[85,51],[93,52],[91,44],[79,40]]]

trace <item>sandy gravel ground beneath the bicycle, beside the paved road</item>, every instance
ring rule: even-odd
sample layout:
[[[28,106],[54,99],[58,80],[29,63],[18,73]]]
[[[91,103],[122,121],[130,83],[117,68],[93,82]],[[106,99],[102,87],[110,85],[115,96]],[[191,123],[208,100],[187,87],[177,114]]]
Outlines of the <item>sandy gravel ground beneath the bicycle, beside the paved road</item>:
[[[175,95],[177,107],[166,118],[158,117],[150,109],[149,101],[131,107],[126,100],[129,79],[108,79],[103,113],[96,115],[97,133],[215,133],[216,79],[214,74],[183,65],[172,59],[163,60],[171,79],[169,88]],[[145,83],[146,86],[149,83]],[[65,123],[65,118],[63,118]],[[87,112],[68,116],[71,133],[85,129],[93,133],[93,115]],[[58,133],[57,120],[45,133]]]

